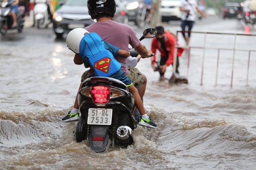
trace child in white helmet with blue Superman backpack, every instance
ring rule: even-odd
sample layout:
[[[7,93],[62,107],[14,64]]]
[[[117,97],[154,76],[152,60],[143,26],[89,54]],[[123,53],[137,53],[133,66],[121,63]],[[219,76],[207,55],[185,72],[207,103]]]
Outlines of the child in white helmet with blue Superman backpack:
[[[116,61],[114,56],[117,54],[124,57],[129,57],[130,52],[125,50],[120,50],[119,47],[116,47],[108,42],[104,42],[100,36],[95,33],[89,33],[86,29],[76,28],[70,31],[67,36],[67,45],[75,53],[79,53],[82,57],[84,66],[86,68],[94,68],[94,75],[90,76],[104,76],[111,77],[117,80],[122,81],[128,87],[129,92],[135,98],[135,104],[137,109],[141,114],[141,119],[139,125],[156,128],[156,125],[151,121],[150,117],[147,115],[138,90],[132,84],[132,81],[124,74],[120,69],[121,64]],[[100,62],[99,62],[100,61]],[[99,63],[108,63],[104,67],[100,67]],[[81,89],[81,86],[79,90]],[[78,111],[78,108],[75,108]],[[76,118],[78,117],[78,112],[76,112]],[[75,114],[72,114],[71,111],[66,117],[62,119],[64,122],[72,120]],[[74,117],[75,118],[75,117]],[[75,119],[73,119],[75,120]]]

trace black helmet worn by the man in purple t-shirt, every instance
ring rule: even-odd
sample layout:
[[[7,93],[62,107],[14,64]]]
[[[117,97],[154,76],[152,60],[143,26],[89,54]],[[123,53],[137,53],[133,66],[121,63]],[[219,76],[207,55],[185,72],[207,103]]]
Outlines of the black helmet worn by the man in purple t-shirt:
[[[106,12],[111,17],[114,17],[116,13],[115,0],[88,0],[87,7],[92,20],[94,20],[96,15],[100,12]]]

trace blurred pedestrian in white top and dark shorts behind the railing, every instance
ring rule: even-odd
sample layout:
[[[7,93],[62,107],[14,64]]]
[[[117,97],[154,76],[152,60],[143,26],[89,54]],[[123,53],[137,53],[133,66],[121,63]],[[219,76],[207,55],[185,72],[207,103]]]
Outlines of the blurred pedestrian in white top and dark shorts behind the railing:
[[[190,31],[194,25],[194,21],[196,20],[196,10],[202,14],[204,18],[206,18],[206,15],[204,12],[202,12],[195,0],[182,0],[180,4],[180,11],[182,11],[181,16],[181,28],[182,31],[186,31],[186,26],[188,27],[188,35],[186,36],[185,32],[182,32],[182,35],[186,41],[186,46],[189,44],[190,40]]]

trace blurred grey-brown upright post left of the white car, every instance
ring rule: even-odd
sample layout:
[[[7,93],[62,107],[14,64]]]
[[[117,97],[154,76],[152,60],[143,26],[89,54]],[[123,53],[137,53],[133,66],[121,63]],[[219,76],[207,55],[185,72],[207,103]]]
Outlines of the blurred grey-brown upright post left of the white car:
[[[159,24],[159,6],[160,6],[161,0],[152,0],[152,6],[149,10],[150,15],[152,17],[150,18],[150,28],[154,28]]]

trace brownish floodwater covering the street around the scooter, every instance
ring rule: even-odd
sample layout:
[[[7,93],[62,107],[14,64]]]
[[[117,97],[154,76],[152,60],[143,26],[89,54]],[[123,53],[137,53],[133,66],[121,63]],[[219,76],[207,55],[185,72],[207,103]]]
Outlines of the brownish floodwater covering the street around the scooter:
[[[164,27],[180,29],[171,23]],[[142,30],[134,29],[140,37]],[[73,63],[65,40],[56,40],[52,30],[40,31],[0,37],[1,170],[255,169],[256,52],[248,64],[248,51],[223,50],[217,64],[217,50],[206,49],[205,59],[202,49],[192,48],[190,57],[185,51],[179,70],[188,84],[159,81],[150,59],[142,59],[137,67],[148,78],[144,106],[158,128],[139,126],[133,145],[95,153],[87,141],[76,143],[76,122],[61,121],[85,68]],[[243,33],[243,25],[219,20],[196,23],[193,31]],[[255,50],[255,40],[237,37],[236,48]],[[191,46],[202,47],[203,41],[194,33]],[[150,42],[142,43],[150,48]],[[179,42],[184,44],[182,37]],[[207,35],[206,47],[233,48],[233,42],[234,36]],[[171,74],[169,66],[166,78]]]

